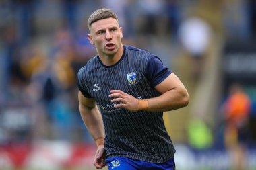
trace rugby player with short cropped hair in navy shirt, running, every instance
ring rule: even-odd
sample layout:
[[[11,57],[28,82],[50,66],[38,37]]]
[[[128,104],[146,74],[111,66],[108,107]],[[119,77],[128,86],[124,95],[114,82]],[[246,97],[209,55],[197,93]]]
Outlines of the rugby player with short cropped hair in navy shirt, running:
[[[186,88],[160,58],[122,44],[123,28],[110,9],[92,13],[88,26],[98,55],[79,70],[78,96],[97,144],[94,166],[173,170],[175,149],[163,112],[189,103]]]

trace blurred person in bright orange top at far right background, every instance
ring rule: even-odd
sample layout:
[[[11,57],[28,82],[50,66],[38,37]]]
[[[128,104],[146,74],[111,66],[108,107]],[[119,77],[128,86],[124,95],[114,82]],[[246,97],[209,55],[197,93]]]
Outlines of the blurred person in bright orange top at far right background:
[[[251,99],[236,83],[230,86],[230,94],[223,104],[224,142],[230,151],[234,169],[245,169],[245,146],[249,139],[248,118],[251,110]]]

